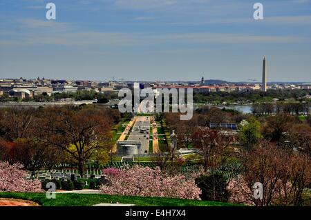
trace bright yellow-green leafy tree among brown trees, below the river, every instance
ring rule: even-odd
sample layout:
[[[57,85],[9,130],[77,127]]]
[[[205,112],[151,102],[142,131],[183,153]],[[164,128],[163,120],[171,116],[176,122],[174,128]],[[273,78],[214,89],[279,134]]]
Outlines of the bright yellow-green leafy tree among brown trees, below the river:
[[[261,140],[261,124],[255,119],[242,121],[238,126],[241,145],[247,150],[252,150]]]

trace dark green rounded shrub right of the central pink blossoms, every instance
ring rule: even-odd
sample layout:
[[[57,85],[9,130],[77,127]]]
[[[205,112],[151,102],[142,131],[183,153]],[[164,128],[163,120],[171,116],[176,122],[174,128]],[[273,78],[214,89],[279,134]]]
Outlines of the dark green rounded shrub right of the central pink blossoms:
[[[228,201],[229,190],[227,181],[220,174],[201,175],[196,179],[196,185],[202,190],[200,198],[208,201]]]

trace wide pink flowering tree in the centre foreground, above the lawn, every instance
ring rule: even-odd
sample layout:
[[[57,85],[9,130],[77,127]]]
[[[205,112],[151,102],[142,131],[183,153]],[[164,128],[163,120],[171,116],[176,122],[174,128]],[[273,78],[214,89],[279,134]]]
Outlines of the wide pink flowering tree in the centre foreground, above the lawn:
[[[124,170],[104,170],[111,184],[103,185],[103,194],[120,194],[140,197],[171,197],[178,199],[200,199],[200,188],[194,179],[183,175],[169,176],[160,168],[151,169],[134,166]]]

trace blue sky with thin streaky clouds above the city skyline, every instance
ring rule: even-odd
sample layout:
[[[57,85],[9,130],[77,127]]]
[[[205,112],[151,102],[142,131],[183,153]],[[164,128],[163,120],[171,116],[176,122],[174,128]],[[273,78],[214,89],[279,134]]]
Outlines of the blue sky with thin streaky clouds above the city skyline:
[[[0,0],[0,78],[261,81],[264,56],[311,81],[311,0]]]

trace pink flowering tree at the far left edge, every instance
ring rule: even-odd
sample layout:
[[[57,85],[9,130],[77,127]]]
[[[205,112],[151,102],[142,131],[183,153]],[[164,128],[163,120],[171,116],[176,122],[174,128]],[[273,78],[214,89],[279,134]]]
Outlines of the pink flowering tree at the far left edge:
[[[0,162],[0,192],[42,192],[39,180],[26,180],[20,163]]]

